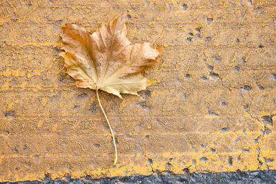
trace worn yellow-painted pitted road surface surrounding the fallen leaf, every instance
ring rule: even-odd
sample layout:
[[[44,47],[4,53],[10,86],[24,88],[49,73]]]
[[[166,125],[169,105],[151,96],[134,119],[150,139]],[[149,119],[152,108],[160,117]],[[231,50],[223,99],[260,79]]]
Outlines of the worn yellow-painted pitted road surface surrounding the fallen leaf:
[[[163,45],[143,99],[72,85],[61,26],[128,10]],[[0,1],[0,181],[276,169],[276,1]]]

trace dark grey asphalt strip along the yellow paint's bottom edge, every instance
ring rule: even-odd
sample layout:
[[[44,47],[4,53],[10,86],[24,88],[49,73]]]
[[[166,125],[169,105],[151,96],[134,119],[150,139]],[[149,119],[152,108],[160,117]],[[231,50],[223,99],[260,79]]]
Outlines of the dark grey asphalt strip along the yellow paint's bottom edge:
[[[23,181],[16,184],[38,184],[38,183],[276,183],[276,170],[264,170],[253,172],[216,172],[216,173],[193,173],[193,174],[165,174],[155,173],[149,176],[125,176],[93,179],[89,176],[80,179],[65,177],[64,180],[50,180],[46,176],[43,181]],[[8,184],[8,182],[7,182]]]

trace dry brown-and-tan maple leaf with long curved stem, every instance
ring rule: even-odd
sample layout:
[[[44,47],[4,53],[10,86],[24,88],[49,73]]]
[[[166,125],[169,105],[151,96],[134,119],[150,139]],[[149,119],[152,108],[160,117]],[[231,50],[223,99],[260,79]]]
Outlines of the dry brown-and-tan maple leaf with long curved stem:
[[[150,43],[131,44],[126,37],[126,12],[103,23],[96,32],[89,34],[77,24],[66,24],[61,35],[63,47],[61,56],[65,60],[67,73],[76,80],[79,88],[96,90],[100,108],[108,122],[117,149],[112,128],[99,100],[98,90],[115,94],[137,94],[145,90],[150,81],[141,72],[153,65],[159,56],[159,48],[150,47]]]

